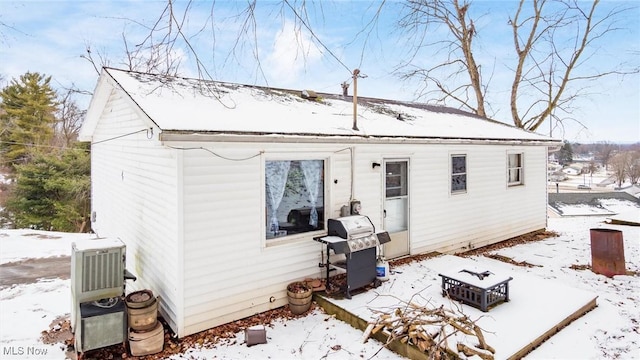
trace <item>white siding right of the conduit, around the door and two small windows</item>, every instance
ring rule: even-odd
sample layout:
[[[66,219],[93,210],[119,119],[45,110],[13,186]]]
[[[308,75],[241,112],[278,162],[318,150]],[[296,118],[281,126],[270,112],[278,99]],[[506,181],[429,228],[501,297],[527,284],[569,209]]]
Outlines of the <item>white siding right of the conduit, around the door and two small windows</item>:
[[[455,150],[451,149],[455,147]],[[528,186],[517,195],[504,186],[502,145],[380,145],[359,146],[356,152],[355,197],[363,214],[376,229],[382,228],[384,194],[378,169],[371,162],[385,156],[410,156],[410,251],[455,252],[480,247],[546,226],[546,149],[528,146],[526,155]],[[393,152],[390,152],[393,150]],[[389,151],[389,153],[387,153]],[[473,191],[466,196],[449,196],[450,154],[473,154],[467,173],[473,173]]]

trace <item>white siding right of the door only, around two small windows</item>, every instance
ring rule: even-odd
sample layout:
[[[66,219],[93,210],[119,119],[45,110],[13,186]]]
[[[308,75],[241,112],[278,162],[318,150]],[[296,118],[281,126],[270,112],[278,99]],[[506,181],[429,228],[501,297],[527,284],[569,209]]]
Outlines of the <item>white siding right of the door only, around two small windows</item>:
[[[521,187],[517,196],[506,191],[503,179],[502,146],[468,146],[473,163],[467,163],[467,173],[473,173],[473,192],[464,197],[447,196],[450,175],[445,163],[449,159],[446,146],[430,146],[412,159],[413,189],[411,201],[411,253],[428,251],[455,252],[506,240],[546,225],[544,201],[544,149],[536,152],[536,162],[542,175],[537,189]],[[532,169],[535,169],[533,160]],[[533,172],[533,170],[531,171]],[[541,193],[542,191],[542,193]],[[541,195],[542,194],[542,195]]]

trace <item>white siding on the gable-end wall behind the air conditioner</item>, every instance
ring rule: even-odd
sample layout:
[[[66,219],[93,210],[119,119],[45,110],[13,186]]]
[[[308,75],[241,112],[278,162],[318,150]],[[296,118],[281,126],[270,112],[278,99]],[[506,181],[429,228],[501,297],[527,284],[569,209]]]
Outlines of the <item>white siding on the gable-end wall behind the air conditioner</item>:
[[[127,292],[152,289],[175,328],[182,307],[176,159],[129,105],[113,93],[94,132],[92,229],[126,244],[127,270],[138,278],[126,282]]]

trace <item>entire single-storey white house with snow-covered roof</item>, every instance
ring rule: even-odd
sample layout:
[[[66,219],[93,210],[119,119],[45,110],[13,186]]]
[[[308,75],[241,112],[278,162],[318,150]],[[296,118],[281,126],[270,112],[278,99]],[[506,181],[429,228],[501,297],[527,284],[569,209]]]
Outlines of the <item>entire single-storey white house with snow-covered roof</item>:
[[[356,199],[391,234],[387,258],[546,227],[560,140],[450,108],[304,94],[103,69],[81,130],[92,228],[126,243],[131,287],[160,296],[179,337],[285,305],[286,284],[321,275],[312,238]]]

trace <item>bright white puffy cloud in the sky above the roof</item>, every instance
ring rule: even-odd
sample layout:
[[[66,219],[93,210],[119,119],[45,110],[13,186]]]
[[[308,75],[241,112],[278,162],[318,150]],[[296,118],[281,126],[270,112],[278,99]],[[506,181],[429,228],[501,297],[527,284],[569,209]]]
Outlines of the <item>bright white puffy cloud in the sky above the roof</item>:
[[[271,53],[263,67],[267,78],[278,84],[294,83],[322,59],[322,51],[313,39],[290,20],[276,34]]]

